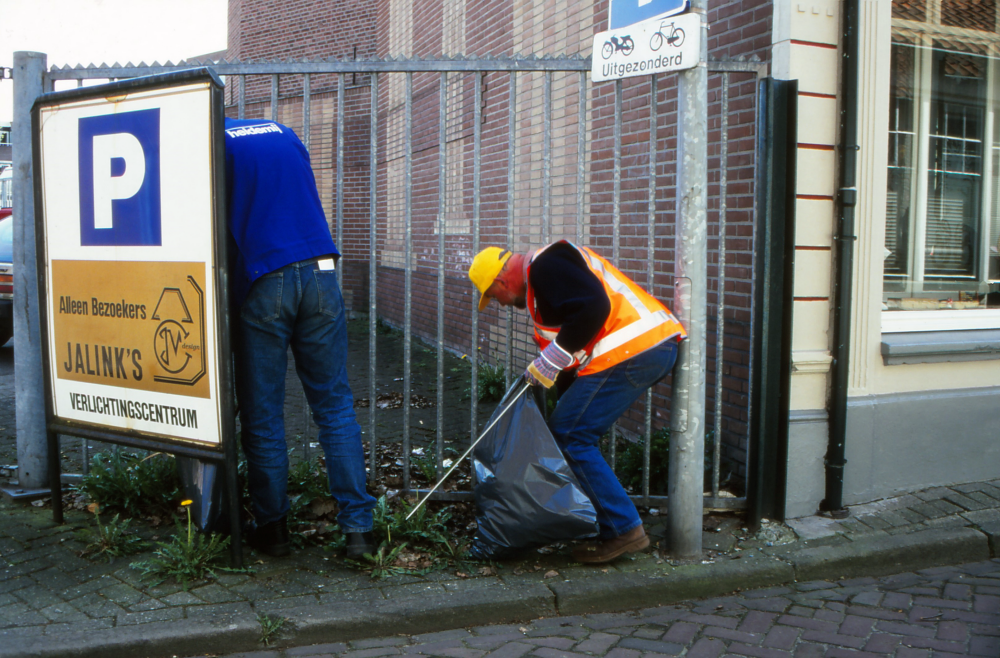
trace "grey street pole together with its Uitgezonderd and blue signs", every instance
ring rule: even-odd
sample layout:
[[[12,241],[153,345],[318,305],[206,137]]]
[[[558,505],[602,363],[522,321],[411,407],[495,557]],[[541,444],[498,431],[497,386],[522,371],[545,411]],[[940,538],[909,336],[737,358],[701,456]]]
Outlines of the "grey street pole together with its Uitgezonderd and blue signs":
[[[674,366],[668,464],[669,543],[665,548],[672,557],[684,560],[701,555],[704,514],[708,295],[707,11],[705,0],[611,0],[610,29],[594,35],[590,73],[591,79],[598,82],[681,71],[677,83],[677,240],[673,309],[687,329],[688,337],[678,347]]]

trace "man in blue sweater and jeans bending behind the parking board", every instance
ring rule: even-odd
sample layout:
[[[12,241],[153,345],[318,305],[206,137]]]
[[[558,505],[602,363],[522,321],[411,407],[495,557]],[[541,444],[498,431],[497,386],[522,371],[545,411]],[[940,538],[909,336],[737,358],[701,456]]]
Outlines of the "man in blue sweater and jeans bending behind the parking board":
[[[349,557],[374,552],[361,427],[347,381],[347,324],[309,153],[286,126],[226,119],[226,193],[236,395],[255,527],[249,543],[291,552],[284,402],[288,348],[319,427]],[[237,310],[238,309],[238,310]],[[238,317],[237,317],[238,313]]]

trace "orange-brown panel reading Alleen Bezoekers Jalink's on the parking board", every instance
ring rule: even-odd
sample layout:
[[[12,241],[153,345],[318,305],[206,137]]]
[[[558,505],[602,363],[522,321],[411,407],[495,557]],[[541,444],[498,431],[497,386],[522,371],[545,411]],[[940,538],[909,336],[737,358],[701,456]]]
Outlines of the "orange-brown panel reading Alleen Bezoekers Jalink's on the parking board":
[[[205,264],[53,260],[59,379],[209,397]]]

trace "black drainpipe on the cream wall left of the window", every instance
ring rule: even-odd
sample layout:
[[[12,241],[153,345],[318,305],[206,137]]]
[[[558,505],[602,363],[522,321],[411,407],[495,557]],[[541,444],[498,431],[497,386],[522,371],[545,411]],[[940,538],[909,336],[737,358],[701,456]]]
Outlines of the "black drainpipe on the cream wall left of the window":
[[[844,518],[844,466],[847,437],[847,386],[851,354],[851,297],[854,288],[854,208],[858,153],[858,0],[844,2],[843,67],[840,110],[840,194],[834,282],[833,364],[830,371],[830,441],[826,451],[826,498],[820,509]]]

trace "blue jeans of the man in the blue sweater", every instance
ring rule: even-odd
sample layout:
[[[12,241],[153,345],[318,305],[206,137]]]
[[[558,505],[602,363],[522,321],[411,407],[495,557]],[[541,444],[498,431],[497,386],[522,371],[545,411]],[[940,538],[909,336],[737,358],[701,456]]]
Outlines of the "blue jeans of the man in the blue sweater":
[[[336,272],[313,261],[254,282],[235,323],[236,394],[250,499],[258,526],[288,514],[285,372],[288,347],[326,455],[330,495],[343,532],[372,529],[365,455],[347,382],[347,322]]]

